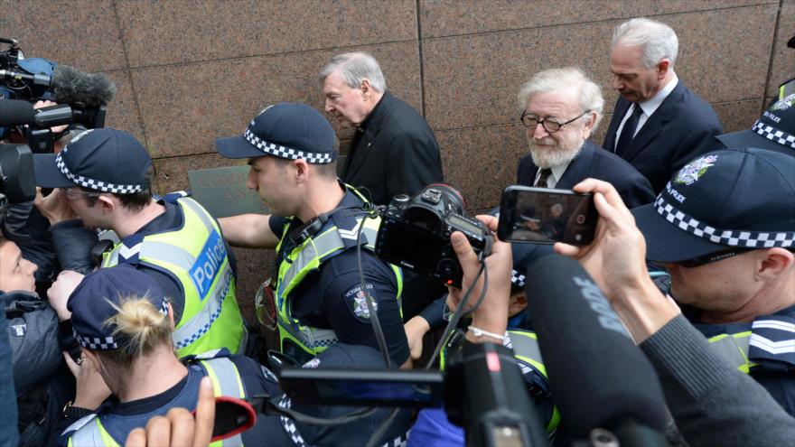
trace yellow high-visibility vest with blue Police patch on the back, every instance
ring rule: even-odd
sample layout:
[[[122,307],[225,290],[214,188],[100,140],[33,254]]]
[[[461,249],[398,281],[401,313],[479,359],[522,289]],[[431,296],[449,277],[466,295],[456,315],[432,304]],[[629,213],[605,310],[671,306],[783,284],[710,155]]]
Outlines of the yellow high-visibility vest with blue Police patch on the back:
[[[218,224],[196,200],[164,199],[182,210],[182,228],[126,237],[103,256],[102,267],[147,265],[182,284],[185,303],[172,334],[180,358],[220,348],[242,354],[246,330]]]

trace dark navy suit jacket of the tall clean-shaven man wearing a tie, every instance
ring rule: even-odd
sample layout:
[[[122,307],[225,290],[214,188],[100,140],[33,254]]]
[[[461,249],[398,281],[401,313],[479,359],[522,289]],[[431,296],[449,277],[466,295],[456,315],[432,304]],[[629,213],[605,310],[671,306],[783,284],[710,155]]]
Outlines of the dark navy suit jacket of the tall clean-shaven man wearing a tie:
[[[615,103],[603,147],[613,152],[615,132],[621,125],[631,102],[619,97]],[[649,179],[654,192],[666,183],[687,162],[700,155],[705,140],[723,133],[715,110],[704,99],[691,92],[682,80],[662,101],[632,139],[621,157]]]

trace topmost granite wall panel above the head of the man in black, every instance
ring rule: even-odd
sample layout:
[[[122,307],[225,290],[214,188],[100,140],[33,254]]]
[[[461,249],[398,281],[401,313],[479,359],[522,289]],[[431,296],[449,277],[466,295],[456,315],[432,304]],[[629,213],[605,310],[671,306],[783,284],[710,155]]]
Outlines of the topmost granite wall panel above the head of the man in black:
[[[417,37],[414,0],[121,0],[117,8],[131,67]],[[373,20],[376,17],[378,20]]]

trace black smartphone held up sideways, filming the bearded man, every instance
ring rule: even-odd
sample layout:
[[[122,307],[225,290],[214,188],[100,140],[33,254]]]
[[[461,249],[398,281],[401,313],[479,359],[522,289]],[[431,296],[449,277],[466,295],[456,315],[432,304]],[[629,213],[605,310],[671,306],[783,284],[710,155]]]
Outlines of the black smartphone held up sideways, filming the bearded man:
[[[497,237],[505,242],[586,246],[594,240],[598,217],[591,194],[513,185],[502,191]]]

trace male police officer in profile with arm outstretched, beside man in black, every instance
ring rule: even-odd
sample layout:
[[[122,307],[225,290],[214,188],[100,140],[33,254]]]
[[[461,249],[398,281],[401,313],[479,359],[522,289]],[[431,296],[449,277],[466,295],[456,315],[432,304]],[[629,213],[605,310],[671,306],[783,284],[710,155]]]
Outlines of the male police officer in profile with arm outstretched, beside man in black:
[[[408,346],[400,270],[373,255],[379,219],[337,180],[336,145],[328,121],[300,103],[267,107],[242,136],[220,138],[221,155],[248,159],[247,186],[273,213],[220,219],[220,225],[233,246],[276,248],[272,279],[283,352],[303,363],[338,341],[378,349],[369,293],[389,358],[402,365]]]

